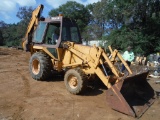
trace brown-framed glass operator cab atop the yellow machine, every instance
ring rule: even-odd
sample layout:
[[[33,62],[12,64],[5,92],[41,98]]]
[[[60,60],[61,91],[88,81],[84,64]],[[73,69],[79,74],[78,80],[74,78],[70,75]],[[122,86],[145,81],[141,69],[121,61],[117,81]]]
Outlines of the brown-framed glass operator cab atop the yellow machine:
[[[35,44],[47,48],[59,48],[61,43],[65,41],[82,43],[76,22],[63,16],[40,21],[33,35]]]

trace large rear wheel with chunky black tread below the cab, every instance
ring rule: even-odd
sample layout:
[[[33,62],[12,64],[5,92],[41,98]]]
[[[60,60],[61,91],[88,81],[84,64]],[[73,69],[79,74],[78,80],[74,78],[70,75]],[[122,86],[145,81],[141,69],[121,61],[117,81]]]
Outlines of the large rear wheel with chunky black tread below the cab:
[[[29,71],[33,79],[45,80],[51,75],[52,62],[47,54],[34,53],[29,61]]]

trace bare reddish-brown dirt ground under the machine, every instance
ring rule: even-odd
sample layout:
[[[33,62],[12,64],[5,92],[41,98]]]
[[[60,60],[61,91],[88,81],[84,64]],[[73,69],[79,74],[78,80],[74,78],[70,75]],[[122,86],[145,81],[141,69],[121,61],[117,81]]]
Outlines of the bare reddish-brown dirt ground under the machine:
[[[70,94],[63,77],[36,81],[29,74],[30,53],[0,47],[0,120],[134,120],[112,110],[104,87],[87,88],[84,95]],[[158,79],[149,78],[154,90]],[[160,120],[160,98],[140,120]]]

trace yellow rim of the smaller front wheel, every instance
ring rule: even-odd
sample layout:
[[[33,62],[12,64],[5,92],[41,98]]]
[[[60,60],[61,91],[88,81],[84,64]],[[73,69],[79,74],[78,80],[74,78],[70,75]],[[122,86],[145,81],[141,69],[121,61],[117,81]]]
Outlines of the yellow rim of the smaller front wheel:
[[[75,89],[78,86],[78,79],[74,75],[70,75],[68,77],[68,85],[72,88]]]

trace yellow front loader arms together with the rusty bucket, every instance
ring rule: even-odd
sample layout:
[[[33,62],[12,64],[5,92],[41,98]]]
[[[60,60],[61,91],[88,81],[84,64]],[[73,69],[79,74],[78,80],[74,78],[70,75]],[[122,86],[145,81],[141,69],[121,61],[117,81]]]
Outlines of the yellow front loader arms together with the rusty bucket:
[[[146,81],[148,71],[132,73],[118,50],[111,50],[112,57],[109,58],[100,47],[87,47],[73,42],[65,42],[63,46],[71,52],[71,57],[75,55],[81,59],[82,64],[79,62],[77,67],[83,69],[83,65],[87,66],[87,69],[90,69],[105,84],[108,88],[106,98],[111,108],[133,117],[140,117],[154,102],[154,90]],[[126,66],[129,74],[123,74],[116,69],[114,66],[116,57]],[[106,72],[105,63],[113,75]],[[68,63],[67,66],[69,65],[72,68],[73,64]],[[84,69],[83,71],[85,72]]]

